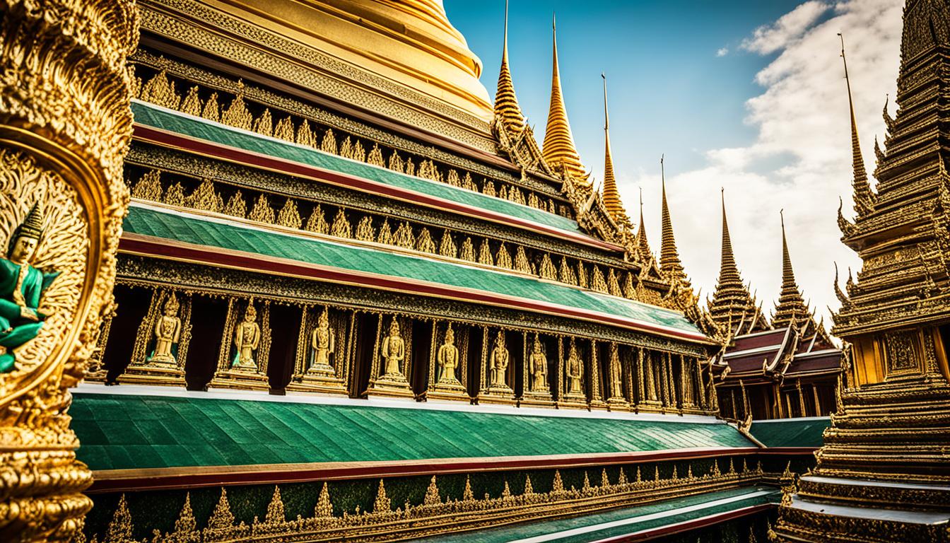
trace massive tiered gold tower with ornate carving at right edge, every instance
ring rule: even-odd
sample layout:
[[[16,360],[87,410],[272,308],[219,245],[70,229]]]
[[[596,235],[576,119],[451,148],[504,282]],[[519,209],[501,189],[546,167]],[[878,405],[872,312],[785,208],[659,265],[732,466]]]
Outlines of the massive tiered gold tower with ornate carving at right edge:
[[[848,387],[774,540],[950,540],[948,95],[950,1],[909,0],[876,195],[851,113],[856,216],[839,222],[864,265],[832,330],[853,345]]]

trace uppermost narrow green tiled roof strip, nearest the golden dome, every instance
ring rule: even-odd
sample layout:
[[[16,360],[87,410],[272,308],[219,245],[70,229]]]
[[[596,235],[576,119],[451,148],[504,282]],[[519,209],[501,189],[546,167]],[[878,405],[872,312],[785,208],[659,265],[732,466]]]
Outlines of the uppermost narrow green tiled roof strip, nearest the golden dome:
[[[412,190],[459,204],[467,204],[473,207],[487,209],[510,217],[517,217],[569,232],[580,232],[576,221],[555,215],[554,213],[548,213],[547,211],[535,209],[527,205],[515,204],[507,200],[502,200],[501,198],[486,196],[485,194],[450,184],[430,181],[428,179],[392,171],[387,168],[359,163],[330,153],[325,153],[313,147],[276,140],[275,138],[261,136],[260,134],[247,130],[240,130],[206,119],[185,115],[177,111],[155,107],[144,102],[133,102],[132,112],[135,114],[135,122],[145,126],[153,126],[193,138],[214,142],[219,145],[228,145],[304,165],[312,165],[337,171],[377,183]]]

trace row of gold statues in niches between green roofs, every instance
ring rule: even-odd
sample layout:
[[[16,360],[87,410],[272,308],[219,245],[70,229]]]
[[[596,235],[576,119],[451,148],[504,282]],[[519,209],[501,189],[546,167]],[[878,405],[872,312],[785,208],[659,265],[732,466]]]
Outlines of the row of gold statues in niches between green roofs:
[[[187,334],[183,331],[190,330],[190,325],[182,321],[180,312],[184,304],[180,302],[179,296],[174,292],[162,293],[161,290],[155,293],[152,309],[140,327],[140,335],[144,334],[146,337],[137,339],[143,345],[142,352],[148,354],[131,361],[124,380],[156,382],[153,374],[159,372],[161,379],[164,379],[159,379],[161,382],[180,383],[184,367],[180,344],[186,340]],[[190,297],[185,298],[190,302]],[[258,312],[254,300],[246,302],[242,313],[238,307],[240,303],[237,299],[229,302],[227,321],[230,324],[227,330],[230,331],[225,334],[224,343],[221,346],[218,374],[211,386],[241,388],[250,385],[252,388],[264,388],[268,386],[267,355],[261,350],[264,338],[269,335],[270,330],[266,310],[269,302],[265,302],[264,315]],[[158,312],[160,305],[161,314]],[[237,319],[238,314],[241,314],[240,319]],[[313,325],[308,324],[309,315],[312,315],[311,310],[304,308],[294,378],[288,387],[290,390],[313,390],[309,386],[313,385],[321,392],[334,394],[365,392],[371,396],[418,397],[418,394],[413,391],[413,388],[418,388],[418,383],[414,387],[409,376],[417,375],[413,371],[414,364],[425,363],[425,360],[412,360],[410,357],[411,338],[404,330],[410,322],[408,318],[396,316],[384,318],[382,315],[378,317],[378,335],[372,350],[368,388],[364,391],[352,391],[352,385],[348,384],[347,379],[347,373],[351,369],[349,366],[352,365],[353,360],[348,350],[351,349],[349,346],[351,341],[347,340],[347,326],[339,320],[342,317],[334,317],[332,320],[330,309],[326,306],[319,310]],[[187,320],[187,316],[184,318]],[[478,330],[485,334],[484,359],[481,363],[476,361],[473,365],[469,365],[466,362],[467,339]],[[424,398],[467,400],[470,397],[469,385],[466,383],[474,382],[479,401],[515,403],[519,400],[516,398],[513,380],[514,359],[507,345],[506,333],[504,330],[499,330],[489,341],[487,331],[485,327],[465,327],[462,331],[464,344],[460,348],[458,334],[451,322],[448,322],[445,327],[436,325],[433,328],[428,371],[430,380]],[[351,335],[353,332],[354,330],[349,330]],[[589,398],[602,397],[606,401],[605,405],[622,407],[629,405],[628,397],[634,397],[632,389],[625,390],[627,384],[625,378],[634,378],[633,369],[624,368],[617,343],[609,343],[609,356],[603,368],[606,375],[601,381],[599,364],[592,361],[588,371],[586,367],[588,364],[585,362],[585,357],[581,356],[577,339],[568,339],[564,345],[566,348],[563,351],[563,358],[558,363],[560,375],[555,379],[555,384],[557,384],[555,387],[549,378],[549,356],[545,352],[541,336],[536,333],[531,338],[530,334],[525,333],[524,339],[526,350],[522,368],[523,402],[532,405],[560,403],[587,405],[591,401]],[[344,343],[342,352],[338,348],[339,341]],[[559,351],[560,349],[559,346]],[[597,355],[592,352],[591,356]],[[673,384],[675,378],[672,377],[672,369],[661,370],[661,372],[668,371],[668,377],[661,374],[655,375],[653,368],[649,367],[651,363],[649,359],[646,371],[642,368],[637,370],[636,378],[640,381],[638,386],[641,391],[639,396],[645,403],[651,405],[677,403],[669,398],[661,401],[662,395],[657,392],[661,388],[668,387],[675,393],[678,387],[683,394],[691,396],[695,394],[691,383],[698,381],[699,386],[702,386],[702,378],[698,373],[695,375],[692,373],[687,375],[687,373],[698,372],[698,365],[695,365],[696,362],[691,359],[688,366],[686,359],[683,360],[681,365],[683,380],[678,385]],[[471,381],[466,376],[468,369],[479,367],[482,368],[482,375]],[[691,369],[688,370],[688,367]],[[169,372],[174,374],[170,380],[167,379]],[[604,384],[602,392],[599,390],[599,382]],[[700,391],[699,394],[702,392]],[[596,401],[600,400],[596,399]],[[683,404],[682,401],[679,403]],[[688,403],[693,404],[693,401]]]

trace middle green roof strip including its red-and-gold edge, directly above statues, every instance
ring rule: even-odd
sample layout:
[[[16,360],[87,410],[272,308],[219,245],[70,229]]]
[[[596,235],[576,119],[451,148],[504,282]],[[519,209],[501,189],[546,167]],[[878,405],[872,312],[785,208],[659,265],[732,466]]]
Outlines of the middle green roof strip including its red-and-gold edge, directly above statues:
[[[503,273],[469,262],[418,256],[375,243],[342,243],[333,238],[281,227],[265,227],[225,215],[183,212],[133,203],[123,223],[122,250],[189,262],[283,270],[316,281],[345,281],[371,288],[398,288],[421,296],[508,305],[520,310],[562,313],[618,326],[705,341],[679,312],[591,290]],[[159,254],[161,253],[161,254]],[[187,253],[187,256],[183,256]],[[221,261],[221,262],[219,262]],[[275,267],[276,266],[276,267]],[[279,268],[279,269],[277,269]],[[285,269],[286,268],[286,269]],[[338,277],[340,275],[346,276]],[[486,301],[490,294],[492,301]],[[495,300],[497,299],[497,300]],[[586,317],[584,317],[586,315]]]

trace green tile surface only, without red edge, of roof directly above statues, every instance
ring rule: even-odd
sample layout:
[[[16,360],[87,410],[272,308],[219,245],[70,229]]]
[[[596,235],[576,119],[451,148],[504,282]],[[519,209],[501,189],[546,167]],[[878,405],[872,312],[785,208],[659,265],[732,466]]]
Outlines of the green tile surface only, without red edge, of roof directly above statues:
[[[146,236],[253,252],[297,262],[382,273],[417,281],[433,281],[528,300],[557,303],[699,335],[695,326],[675,311],[461,263],[401,255],[309,236],[283,234],[237,223],[208,221],[197,216],[140,205],[129,207],[123,229]]]

